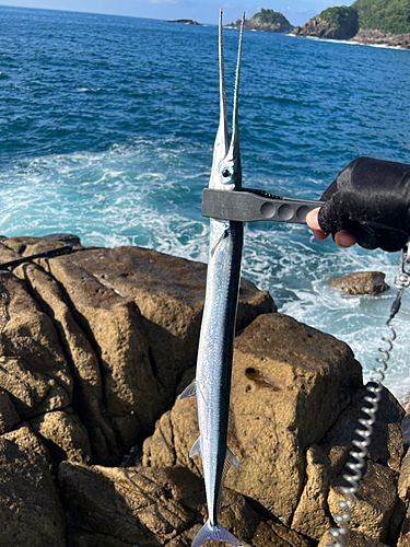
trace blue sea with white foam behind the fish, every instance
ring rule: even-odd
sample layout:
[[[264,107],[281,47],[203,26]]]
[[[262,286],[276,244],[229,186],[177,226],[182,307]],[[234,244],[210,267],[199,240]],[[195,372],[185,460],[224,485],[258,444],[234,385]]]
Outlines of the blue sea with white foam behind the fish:
[[[207,261],[219,13],[214,26],[5,7],[0,18],[0,233],[73,233],[83,245]],[[237,39],[224,31],[229,116]],[[245,31],[245,187],[318,199],[358,156],[410,163],[409,119],[410,51]],[[379,270],[391,286],[398,263],[397,253],[318,242],[302,225],[245,228],[243,275],[280,312],[348,342],[365,380],[395,290],[347,296],[327,281]],[[408,292],[385,381],[403,404]]]

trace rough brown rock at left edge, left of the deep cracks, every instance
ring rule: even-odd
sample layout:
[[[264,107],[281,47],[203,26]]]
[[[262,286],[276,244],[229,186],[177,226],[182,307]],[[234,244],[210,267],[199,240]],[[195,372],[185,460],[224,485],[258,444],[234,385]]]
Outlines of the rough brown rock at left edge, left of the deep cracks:
[[[71,403],[72,377],[51,319],[25,283],[0,274],[0,386],[21,418]]]

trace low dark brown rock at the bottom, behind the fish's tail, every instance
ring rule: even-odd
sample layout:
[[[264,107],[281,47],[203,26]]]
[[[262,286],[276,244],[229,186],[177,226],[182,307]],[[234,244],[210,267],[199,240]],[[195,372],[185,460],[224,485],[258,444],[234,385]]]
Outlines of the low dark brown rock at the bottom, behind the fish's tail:
[[[59,479],[69,508],[72,547],[188,547],[207,519],[203,481],[186,468],[121,469],[62,463]],[[220,521],[244,546],[309,547],[297,533],[261,521],[246,498],[227,489]]]

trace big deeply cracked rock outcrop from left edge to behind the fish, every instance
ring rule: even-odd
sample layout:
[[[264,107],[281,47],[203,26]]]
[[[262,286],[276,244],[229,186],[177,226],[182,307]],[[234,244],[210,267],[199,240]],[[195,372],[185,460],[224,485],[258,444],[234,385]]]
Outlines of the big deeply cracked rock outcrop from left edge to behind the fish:
[[[20,419],[42,416],[45,423],[57,410],[54,418],[62,419],[73,405],[93,461],[118,465],[152,433],[195,364],[206,265],[138,247],[84,249],[74,236],[57,237],[1,240],[2,263],[66,242],[74,248],[0,274],[0,388]],[[267,292],[242,281],[238,329],[274,310]],[[63,437],[55,441],[66,446]],[[63,453],[75,450],[56,449],[57,462]],[[87,461],[90,450],[83,454],[75,458]]]

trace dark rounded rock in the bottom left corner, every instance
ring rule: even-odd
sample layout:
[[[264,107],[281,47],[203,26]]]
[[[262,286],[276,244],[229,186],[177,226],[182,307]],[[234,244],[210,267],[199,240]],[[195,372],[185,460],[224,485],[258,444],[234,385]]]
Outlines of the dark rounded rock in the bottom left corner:
[[[65,517],[48,465],[0,439],[0,547],[66,547]]]

